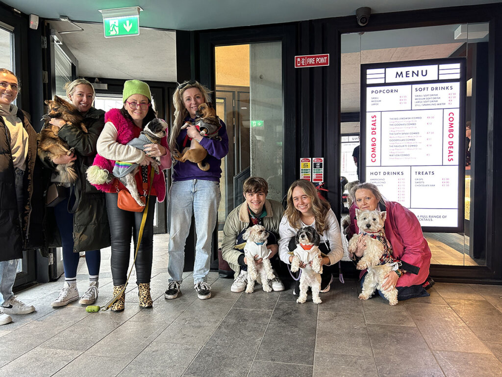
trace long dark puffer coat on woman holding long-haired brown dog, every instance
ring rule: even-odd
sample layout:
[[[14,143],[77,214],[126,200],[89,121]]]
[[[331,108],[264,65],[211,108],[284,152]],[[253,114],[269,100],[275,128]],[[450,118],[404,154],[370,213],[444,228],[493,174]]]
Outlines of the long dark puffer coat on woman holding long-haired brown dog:
[[[83,123],[88,133],[74,126],[63,126],[58,136],[75,148],[75,167],[78,179],[74,191],[77,197],[77,208],[73,216],[74,251],[97,250],[110,246],[110,229],[106,214],[104,193],[95,189],[86,179],[85,171],[92,164],[96,155],[96,142],[104,127],[104,111],[91,108],[85,115]],[[50,176],[55,165],[44,161],[50,167],[46,172],[46,186],[50,184]],[[46,211],[46,238],[49,247],[61,246],[61,237],[54,218],[53,208]]]

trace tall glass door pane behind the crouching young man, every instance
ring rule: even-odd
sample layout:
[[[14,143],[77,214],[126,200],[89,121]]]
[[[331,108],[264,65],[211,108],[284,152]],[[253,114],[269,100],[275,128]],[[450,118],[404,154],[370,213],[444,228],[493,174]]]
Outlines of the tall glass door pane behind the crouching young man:
[[[242,183],[247,177],[265,178],[268,198],[282,199],[282,42],[217,46],[214,55],[216,111],[229,140],[221,166],[219,245],[228,213],[244,200]]]

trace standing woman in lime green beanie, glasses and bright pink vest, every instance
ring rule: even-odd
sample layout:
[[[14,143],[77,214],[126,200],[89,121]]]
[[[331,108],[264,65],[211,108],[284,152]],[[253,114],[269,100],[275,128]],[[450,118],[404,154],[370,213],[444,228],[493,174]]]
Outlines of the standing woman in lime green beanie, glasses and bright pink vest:
[[[138,192],[143,194],[143,182],[147,180],[150,187],[151,164],[156,163],[154,157],[160,157],[160,174],[155,174],[150,192],[150,204],[140,242],[138,256],[136,258],[136,277],[138,295],[141,308],[151,308],[153,305],[150,296],[150,277],[152,273],[153,230],[155,200],[163,202],[166,197],[166,184],[163,169],[171,167],[171,154],[167,145],[167,138],[161,139],[159,144],[146,144],[145,152],[131,145],[127,145],[132,139],[140,136],[143,128],[156,118],[156,112],[152,108],[152,96],[147,83],[139,80],[129,80],[124,83],[122,93],[123,107],[111,109],[105,114],[105,125],[97,140],[98,155],[94,159],[94,165],[110,170],[115,161],[135,162],[140,164],[136,173]],[[116,180],[96,184],[97,189],[106,193],[106,211],[110,224],[111,235],[111,275],[113,277],[113,296],[118,295],[127,281],[129,268],[131,237],[134,239],[135,250],[138,242],[139,230],[143,212],[124,211],[117,207]],[[118,189],[125,187],[120,182]],[[124,291],[125,292],[125,291]],[[124,310],[126,294],[122,292],[111,310],[119,312]]]

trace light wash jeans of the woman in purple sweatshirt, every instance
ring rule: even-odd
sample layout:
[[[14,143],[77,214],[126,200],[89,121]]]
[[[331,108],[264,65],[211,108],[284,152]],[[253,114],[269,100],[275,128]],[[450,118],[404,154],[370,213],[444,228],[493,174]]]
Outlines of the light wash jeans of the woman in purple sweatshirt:
[[[211,239],[221,199],[219,182],[191,179],[176,181],[169,190],[169,282],[181,284],[185,262],[185,241],[195,215],[194,284],[206,281],[211,263]]]

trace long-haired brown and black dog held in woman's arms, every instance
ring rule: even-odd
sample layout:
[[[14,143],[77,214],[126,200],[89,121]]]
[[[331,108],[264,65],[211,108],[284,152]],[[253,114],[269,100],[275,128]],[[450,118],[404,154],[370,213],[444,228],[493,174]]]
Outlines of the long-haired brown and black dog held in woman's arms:
[[[70,156],[75,150],[70,148],[68,144],[58,137],[59,127],[50,124],[53,118],[61,118],[69,127],[78,127],[83,132],[87,133],[87,128],[82,123],[83,117],[78,109],[69,102],[54,96],[54,100],[47,100],[45,104],[48,107],[47,114],[42,117],[45,122],[42,131],[37,135],[38,154],[41,158],[49,158],[54,161],[54,158],[61,156]],[[77,173],[74,167],[74,161],[66,164],[57,164],[56,170],[59,173],[61,183],[73,183],[77,180]]]

